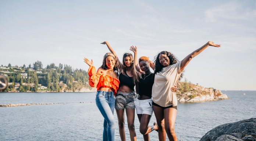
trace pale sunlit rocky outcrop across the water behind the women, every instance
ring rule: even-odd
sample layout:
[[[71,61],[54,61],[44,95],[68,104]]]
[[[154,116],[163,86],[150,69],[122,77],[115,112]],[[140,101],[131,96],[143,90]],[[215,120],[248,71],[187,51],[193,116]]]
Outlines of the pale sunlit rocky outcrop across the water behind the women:
[[[187,85],[187,92],[181,91],[182,87]],[[221,93],[220,90],[213,88],[204,88],[199,85],[188,82],[179,82],[177,90],[177,99],[179,102],[199,102],[199,101],[213,101],[228,99],[226,94]],[[183,88],[184,89],[184,88]]]

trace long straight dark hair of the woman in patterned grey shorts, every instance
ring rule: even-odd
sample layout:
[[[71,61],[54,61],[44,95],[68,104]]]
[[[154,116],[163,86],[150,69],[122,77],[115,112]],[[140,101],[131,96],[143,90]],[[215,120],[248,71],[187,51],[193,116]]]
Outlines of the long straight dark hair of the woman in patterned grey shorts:
[[[135,64],[134,64],[134,57],[132,56],[131,53],[124,53],[123,55],[123,62],[122,62],[122,69],[121,69],[121,73],[125,76],[127,76],[125,74],[125,71],[127,71],[127,66],[125,65],[124,61],[125,61],[125,57],[129,56],[131,59],[132,59],[132,63],[131,63],[131,66],[130,66],[130,71],[131,71],[131,74],[132,74],[132,79],[134,81],[134,84],[136,84],[136,82],[139,81],[139,73],[138,71],[136,71],[136,68],[135,68]]]

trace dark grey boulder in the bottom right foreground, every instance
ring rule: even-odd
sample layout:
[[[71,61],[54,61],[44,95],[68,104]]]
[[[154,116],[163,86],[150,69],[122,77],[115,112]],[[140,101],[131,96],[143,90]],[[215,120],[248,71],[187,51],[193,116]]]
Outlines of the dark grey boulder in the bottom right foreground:
[[[217,126],[200,141],[256,141],[256,118]]]

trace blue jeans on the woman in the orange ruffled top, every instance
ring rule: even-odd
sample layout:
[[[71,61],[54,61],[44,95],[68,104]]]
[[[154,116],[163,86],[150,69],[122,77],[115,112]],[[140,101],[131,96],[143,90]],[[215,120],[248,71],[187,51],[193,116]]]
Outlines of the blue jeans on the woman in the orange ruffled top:
[[[103,141],[115,140],[115,120],[114,107],[115,97],[114,92],[98,90],[96,93],[96,105],[104,117]]]

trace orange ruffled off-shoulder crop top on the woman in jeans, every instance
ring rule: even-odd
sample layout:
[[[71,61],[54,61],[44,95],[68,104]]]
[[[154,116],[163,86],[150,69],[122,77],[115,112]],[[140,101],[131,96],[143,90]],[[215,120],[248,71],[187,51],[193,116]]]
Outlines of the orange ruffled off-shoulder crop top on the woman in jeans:
[[[94,66],[90,66],[88,69],[89,75],[89,85],[91,87],[97,86],[97,90],[100,87],[111,87],[114,89],[114,94],[117,93],[117,89],[119,88],[120,81],[117,78],[113,78],[108,74],[96,73],[96,68]]]

